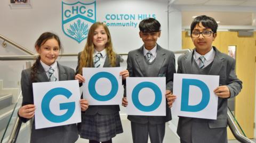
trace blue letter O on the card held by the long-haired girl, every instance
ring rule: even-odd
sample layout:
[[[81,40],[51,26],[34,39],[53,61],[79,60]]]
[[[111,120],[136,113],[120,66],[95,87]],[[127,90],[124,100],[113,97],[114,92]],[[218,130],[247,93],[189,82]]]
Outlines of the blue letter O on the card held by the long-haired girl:
[[[100,78],[107,78],[111,82],[112,88],[108,95],[101,96],[96,92],[95,84],[96,84],[97,80]],[[94,99],[99,100],[99,101],[107,101],[107,100],[114,98],[118,91],[118,82],[116,80],[116,77],[109,72],[98,72],[98,73],[94,74],[88,84],[89,84],[88,89],[89,89],[91,96]]]

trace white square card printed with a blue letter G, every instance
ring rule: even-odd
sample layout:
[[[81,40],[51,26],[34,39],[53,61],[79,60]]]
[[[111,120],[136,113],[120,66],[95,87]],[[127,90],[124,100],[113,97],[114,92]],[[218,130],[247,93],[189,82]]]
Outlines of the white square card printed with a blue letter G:
[[[81,122],[78,80],[33,83],[35,128]]]

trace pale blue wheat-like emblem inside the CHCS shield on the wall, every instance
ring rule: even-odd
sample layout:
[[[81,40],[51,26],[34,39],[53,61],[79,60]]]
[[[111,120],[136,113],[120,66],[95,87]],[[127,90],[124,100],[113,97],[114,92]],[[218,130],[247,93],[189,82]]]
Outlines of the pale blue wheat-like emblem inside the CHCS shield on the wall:
[[[67,29],[68,33],[73,36],[78,43],[81,43],[81,41],[87,37],[88,30],[88,24],[84,22],[81,23],[79,19],[73,24],[70,24],[69,29]]]

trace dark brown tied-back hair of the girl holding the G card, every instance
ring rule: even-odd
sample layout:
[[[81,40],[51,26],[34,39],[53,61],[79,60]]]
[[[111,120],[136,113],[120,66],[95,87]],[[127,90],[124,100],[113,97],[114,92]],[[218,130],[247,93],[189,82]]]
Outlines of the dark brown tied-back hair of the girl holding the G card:
[[[41,48],[41,46],[44,45],[47,40],[52,39],[52,38],[54,38],[55,40],[58,41],[60,51],[62,51],[62,47],[61,47],[61,44],[60,44],[60,38],[57,35],[55,35],[54,33],[51,33],[51,32],[42,33],[42,35],[36,40],[35,47]],[[41,57],[39,55],[36,58],[36,62],[31,67],[32,71],[31,71],[30,76],[31,76],[31,81],[32,82],[35,82],[37,69],[38,69],[38,66],[40,64],[40,59],[41,59]]]

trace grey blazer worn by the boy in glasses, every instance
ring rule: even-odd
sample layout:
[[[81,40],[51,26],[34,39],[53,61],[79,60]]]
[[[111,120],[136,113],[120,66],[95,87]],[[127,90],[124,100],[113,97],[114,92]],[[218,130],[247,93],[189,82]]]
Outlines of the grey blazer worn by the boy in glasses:
[[[242,81],[239,80],[236,77],[235,74],[235,60],[221,52],[218,51],[217,48],[213,47],[215,51],[215,57],[212,62],[211,69],[209,71],[209,75],[220,75],[220,81],[219,85],[227,85],[230,90],[230,98],[235,97],[242,89]],[[194,49],[195,51],[195,49]],[[193,63],[193,55],[194,51],[181,55],[178,58],[178,72],[177,73],[187,73],[187,74],[197,74],[195,71],[191,68]],[[225,128],[227,127],[227,98],[219,98],[218,99],[218,113],[217,113],[217,120],[207,120],[207,119],[193,119],[190,117],[179,117],[179,123],[178,123],[178,129],[177,133],[182,138],[183,136],[186,136],[187,131],[189,130],[186,128],[188,125],[188,122],[191,123],[191,120],[194,120],[194,122],[197,123],[207,123],[207,126],[210,129],[217,129],[217,128]],[[195,124],[195,123],[194,123]],[[189,127],[189,125],[187,126]],[[196,134],[196,132],[204,132],[207,134],[207,130],[201,128],[200,130],[194,128],[194,125],[192,125],[192,128],[190,127],[191,132]],[[196,138],[201,138],[202,134],[198,133],[198,136],[192,136],[192,139],[197,140]],[[221,136],[219,136],[221,137]],[[222,136],[223,137],[223,136]],[[225,137],[223,137],[225,138]],[[201,138],[202,139],[202,138]],[[214,142],[215,138],[214,136],[211,136],[210,138],[207,138],[207,140],[212,140]],[[217,141],[217,140],[216,140]],[[225,140],[223,140],[224,142]]]

